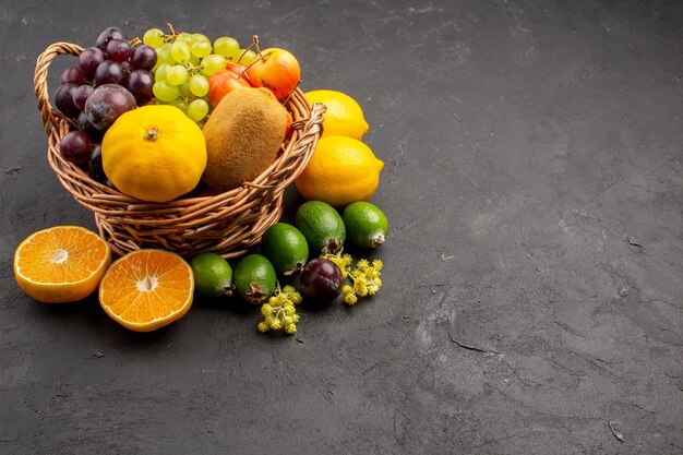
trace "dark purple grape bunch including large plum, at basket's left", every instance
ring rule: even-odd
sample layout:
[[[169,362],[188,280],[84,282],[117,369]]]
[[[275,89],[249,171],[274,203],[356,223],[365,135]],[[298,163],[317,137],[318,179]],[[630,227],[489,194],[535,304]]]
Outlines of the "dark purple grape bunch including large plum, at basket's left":
[[[105,183],[99,147],[105,132],[123,112],[154,98],[151,70],[157,53],[137,41],[129,41],[120,28],[108,27],[62,73],[55,92],[57,109],[77,125],[60,141],[60,154]]]

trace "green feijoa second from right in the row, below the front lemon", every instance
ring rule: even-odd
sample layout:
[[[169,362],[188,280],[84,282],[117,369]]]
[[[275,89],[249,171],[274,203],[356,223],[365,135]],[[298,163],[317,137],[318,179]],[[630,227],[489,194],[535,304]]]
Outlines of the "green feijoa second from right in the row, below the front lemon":
[[[309,242],[311,253],[334,254],[342,250],[346,228],[339,213],[322,201],[308,201],[299,206],[295,225]]]

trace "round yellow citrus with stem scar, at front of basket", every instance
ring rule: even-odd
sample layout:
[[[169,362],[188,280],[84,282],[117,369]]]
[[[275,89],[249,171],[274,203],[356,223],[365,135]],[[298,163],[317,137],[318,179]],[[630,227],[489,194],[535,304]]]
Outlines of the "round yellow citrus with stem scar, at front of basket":
[[[101,164],[123,194],[167,202],[200,182],[206,144],[202,130],[180,109],[148,105],[123,113],[107,130]]]

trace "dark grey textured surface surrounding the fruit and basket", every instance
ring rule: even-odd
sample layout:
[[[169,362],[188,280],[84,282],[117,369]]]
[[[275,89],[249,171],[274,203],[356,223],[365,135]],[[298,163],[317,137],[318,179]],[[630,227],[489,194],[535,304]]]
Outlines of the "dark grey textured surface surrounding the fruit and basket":
[[[47,164],[36,57],[166,22],[259,34],[360,101],[376,298],[296,338],[201,300],[140,335],[17,288],[24,237],[94,228]],[[0,453],[683,453],[682,24],[673,0],[2,1]]]

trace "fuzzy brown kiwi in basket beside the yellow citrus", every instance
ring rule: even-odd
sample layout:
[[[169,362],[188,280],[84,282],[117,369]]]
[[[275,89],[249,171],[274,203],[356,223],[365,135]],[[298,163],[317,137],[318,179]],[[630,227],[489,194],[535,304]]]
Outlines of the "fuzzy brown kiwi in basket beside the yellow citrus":
[[[285,140],[287,110],[267,88],[236,88],[204,124],[207,161],[202,180],[228,191],[259,177]]]

